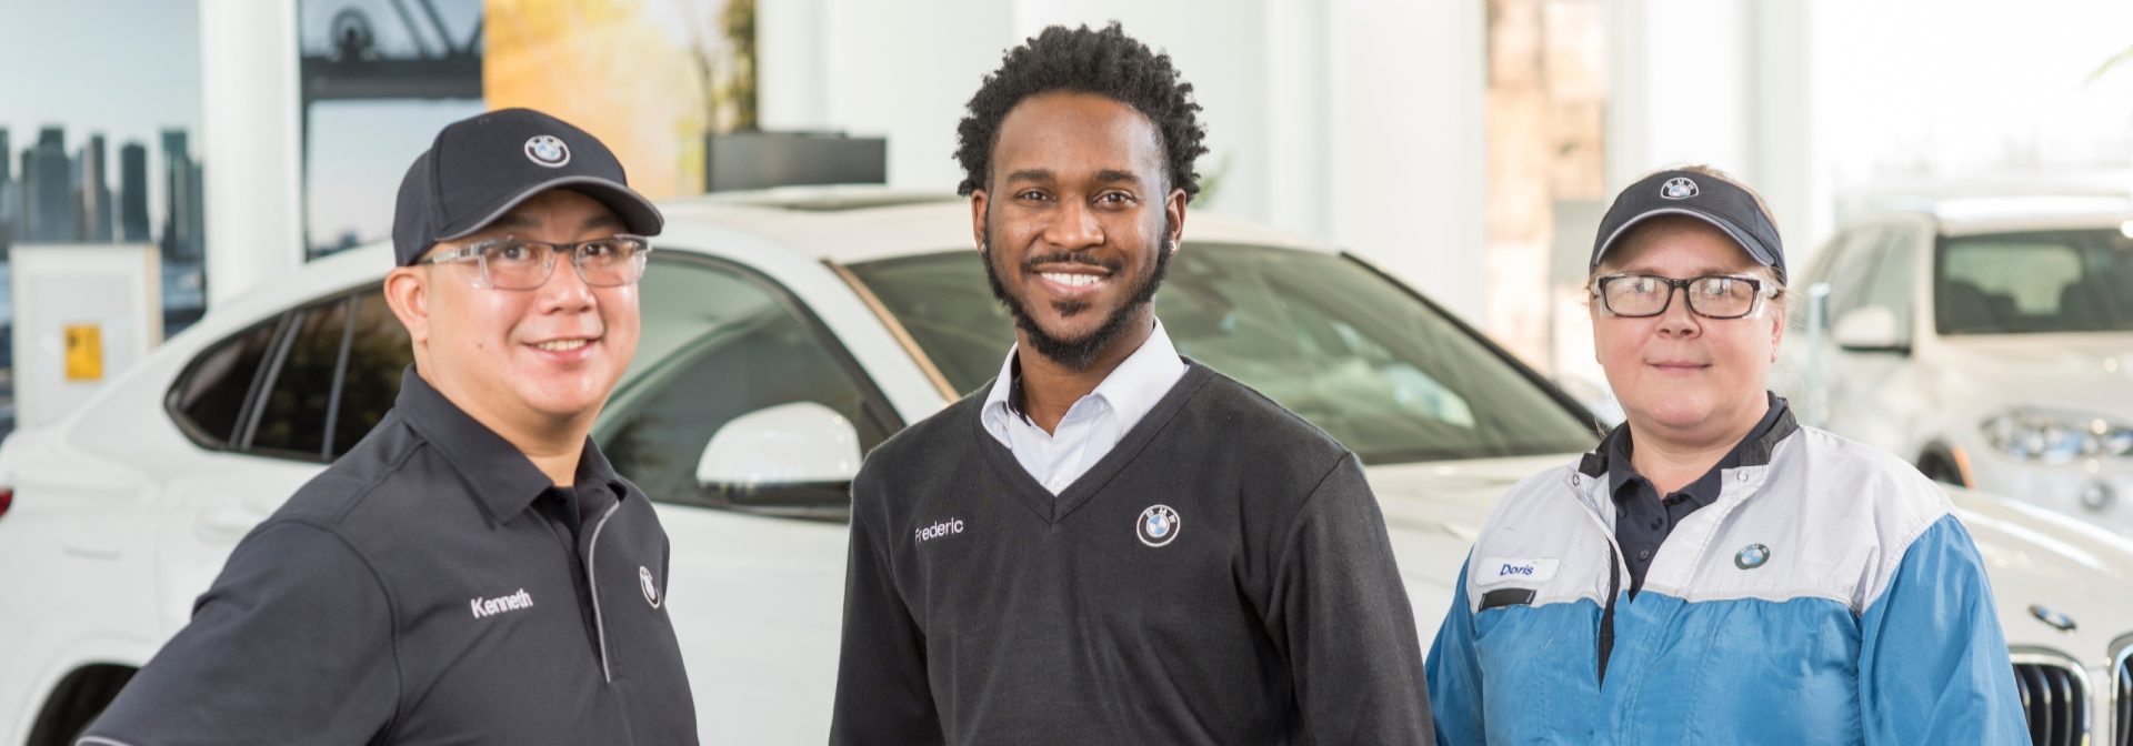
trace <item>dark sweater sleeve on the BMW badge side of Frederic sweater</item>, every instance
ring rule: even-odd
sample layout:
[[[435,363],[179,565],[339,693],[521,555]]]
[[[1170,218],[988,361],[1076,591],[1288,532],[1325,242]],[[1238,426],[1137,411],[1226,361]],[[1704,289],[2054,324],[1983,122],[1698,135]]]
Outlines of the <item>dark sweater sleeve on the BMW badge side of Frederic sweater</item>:
[[[1414,607],[1352,454],[1288,529],[1271,614],[1312,744],[1433,744]]]

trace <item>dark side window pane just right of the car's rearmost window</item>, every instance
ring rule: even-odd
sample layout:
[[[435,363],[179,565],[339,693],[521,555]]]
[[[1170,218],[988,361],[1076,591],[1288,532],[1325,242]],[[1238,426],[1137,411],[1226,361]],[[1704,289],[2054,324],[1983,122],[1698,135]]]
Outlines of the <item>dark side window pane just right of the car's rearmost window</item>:
[[[333,379],[348,343],[348,303],[343,296],[294,311],[294,337],[269,367],[269,388],[245,450],[326,458],[326,416],[333,411]]]

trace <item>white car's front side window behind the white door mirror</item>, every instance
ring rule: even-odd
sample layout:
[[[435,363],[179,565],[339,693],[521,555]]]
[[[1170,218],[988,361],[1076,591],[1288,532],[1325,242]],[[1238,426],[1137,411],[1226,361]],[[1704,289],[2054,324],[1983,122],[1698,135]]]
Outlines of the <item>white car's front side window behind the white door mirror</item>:
[[[819,403],[855,426],[862,452],[902,426],[843,345],[770,279],[655,258],[640,281],[640,320],[636,362],[595,439],[655,501],[725,505],[697,486],[695,467],[710,437],[751,411]]]

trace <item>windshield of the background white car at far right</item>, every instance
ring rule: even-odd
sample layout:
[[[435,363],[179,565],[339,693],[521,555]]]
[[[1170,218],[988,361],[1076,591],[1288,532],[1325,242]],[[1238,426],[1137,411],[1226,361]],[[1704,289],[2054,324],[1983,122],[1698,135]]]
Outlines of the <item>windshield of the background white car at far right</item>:
[[[2133,239],[2118,228],[1943,239],[1932,290],[1941,335],[2133,330]]]

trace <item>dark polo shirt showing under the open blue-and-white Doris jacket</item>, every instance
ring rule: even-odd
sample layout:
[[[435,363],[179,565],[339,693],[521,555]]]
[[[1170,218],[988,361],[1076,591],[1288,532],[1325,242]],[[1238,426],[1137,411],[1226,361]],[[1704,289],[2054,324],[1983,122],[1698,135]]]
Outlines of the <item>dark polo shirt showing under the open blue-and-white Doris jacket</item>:
[[[1770,463],[1770,443],[1792,433],[1792,418],[1785,416],[1785,399],[1768,392],[1766,396],[1770,396],[1770,411],[1747,431],[1747,437],[1734,443],[1726,452],[1726,458],[1719,458],[1702,477],[1666,497],[1659,497],[1659,488],[1642,473],[1636,473],[1636,467],[1630,463],[1632,443],[1627,424],[1617,426],[1606,443],[1600,445],[1608,458],[1608,494],[1615,497],[1615,544],[1621,546],[1621,558],[1630,565],[1632,597],[1645,588],[1645,571],[1651,569],[1651,558],[1659,554],[1659,544],[1666,544],[1666,535],[1698,507],[1719,499],[1719,488],[1723,486],[1721,471]],[[1787,426],[1781,428],[1781,420]],[[1770,435],[1777,431],[1783,433],[1773,439]],[[1760,458],[1749,463],[1753,454],[1760,454]]]

